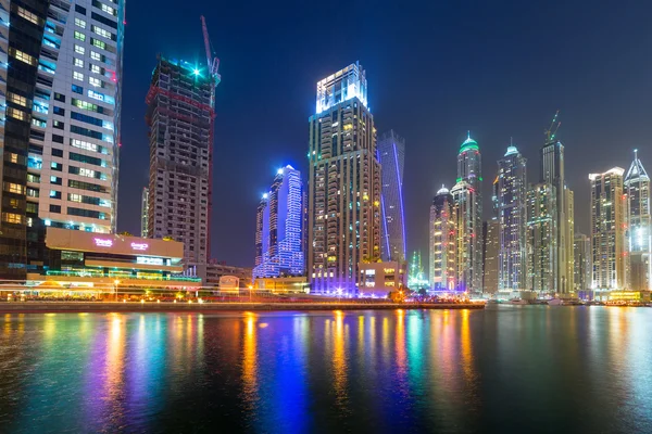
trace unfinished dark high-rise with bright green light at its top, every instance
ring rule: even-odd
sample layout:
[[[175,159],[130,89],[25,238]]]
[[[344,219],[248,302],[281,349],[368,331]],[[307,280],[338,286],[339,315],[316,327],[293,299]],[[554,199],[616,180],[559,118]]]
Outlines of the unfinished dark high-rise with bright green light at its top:
[[[213,90],[218,78],[159,56],[146,102],[150,143],[148,237],[184,243],[186,264],[210,257]]]

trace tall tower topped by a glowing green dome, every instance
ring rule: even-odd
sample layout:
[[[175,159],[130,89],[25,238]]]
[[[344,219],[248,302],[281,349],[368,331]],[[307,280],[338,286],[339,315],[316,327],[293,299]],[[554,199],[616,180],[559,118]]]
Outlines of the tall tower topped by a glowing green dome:
[[[471,133],[457,154],[457,183],[451,190],[457,206],[457,285],[482,292],[482,173],[478,143]]]

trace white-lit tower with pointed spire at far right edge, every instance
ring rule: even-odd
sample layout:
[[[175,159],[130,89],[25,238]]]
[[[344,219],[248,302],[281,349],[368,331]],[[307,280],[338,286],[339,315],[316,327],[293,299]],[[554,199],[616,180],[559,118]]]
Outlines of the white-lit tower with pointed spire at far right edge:
[[[652,290],[652,218],[650,217],[650,177],[638,150],[634,150],[634,162],[625,177],[625,193],[628,202],[627,230],[629,235],[629,261],[631,289]]]

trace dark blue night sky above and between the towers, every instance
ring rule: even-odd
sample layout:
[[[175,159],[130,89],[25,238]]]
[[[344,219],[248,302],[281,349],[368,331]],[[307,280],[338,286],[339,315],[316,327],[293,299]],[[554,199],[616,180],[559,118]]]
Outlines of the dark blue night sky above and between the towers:
[[[222,62],[212,256],[228,264],[253,265],[255,207],[276,169],[291,164],[308,178],[316,81],[356,60],[378,135],[393,128],[406,140],[408,250],[424,258],[432,196],[454,183],[467,129],[482,154],[486,217],[510,138],[537,181],[557,108],[576,230],[589,227],[589,173],[627,169],[635,148],[652,170],[651,2],[423,3],[128,1],[118,230],[140,231],[156,54],[205,62],[201,14]]]

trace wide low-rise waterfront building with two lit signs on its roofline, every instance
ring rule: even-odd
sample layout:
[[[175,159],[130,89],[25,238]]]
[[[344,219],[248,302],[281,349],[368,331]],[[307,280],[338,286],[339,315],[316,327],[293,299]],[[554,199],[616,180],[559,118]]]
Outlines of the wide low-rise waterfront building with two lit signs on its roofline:
[[[201,279],[181,276],[183,243],[50,227],[49,267],[27,275],[36,292],[145,294],[196,291]]]

